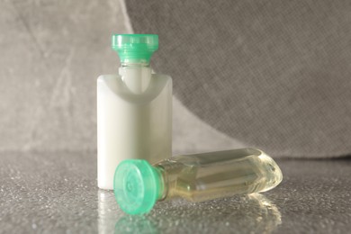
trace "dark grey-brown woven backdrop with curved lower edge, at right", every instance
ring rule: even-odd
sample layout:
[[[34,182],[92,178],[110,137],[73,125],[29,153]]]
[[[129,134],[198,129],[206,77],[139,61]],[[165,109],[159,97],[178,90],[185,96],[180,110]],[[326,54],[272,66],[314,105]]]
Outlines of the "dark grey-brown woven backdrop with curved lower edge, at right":
[[[351,2],[126,1],[203,121],[286,157],[351,152]]]

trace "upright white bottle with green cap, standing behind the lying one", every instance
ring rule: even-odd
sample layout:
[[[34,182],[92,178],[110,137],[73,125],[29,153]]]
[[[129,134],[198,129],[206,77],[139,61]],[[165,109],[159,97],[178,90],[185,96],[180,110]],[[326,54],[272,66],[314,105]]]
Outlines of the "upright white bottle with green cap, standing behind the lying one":
[[[119,75],[97,79],[97,180],[103,189],[113,189],[122,160],[156,162],[172,150],[172,79],[149,66],[158,36],[115,34],[112,49],[121,58]]]

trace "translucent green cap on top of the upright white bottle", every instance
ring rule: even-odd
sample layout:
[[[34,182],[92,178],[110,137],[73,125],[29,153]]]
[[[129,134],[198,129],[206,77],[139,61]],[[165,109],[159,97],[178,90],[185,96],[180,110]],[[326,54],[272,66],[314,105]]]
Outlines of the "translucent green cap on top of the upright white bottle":
[[[158,49],[158,35],[114,34],[112,49],[117,51],[121,63],[149,63],[151,55]]]

